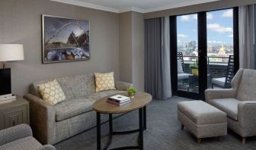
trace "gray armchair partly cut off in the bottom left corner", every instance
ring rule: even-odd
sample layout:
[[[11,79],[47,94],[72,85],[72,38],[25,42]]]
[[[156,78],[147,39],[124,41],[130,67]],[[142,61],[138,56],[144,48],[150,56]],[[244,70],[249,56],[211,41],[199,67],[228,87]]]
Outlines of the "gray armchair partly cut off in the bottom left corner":
[[[27,124],[10,127],[0,131],[0,150],[55,150],[53,145],[41,145],[32,136]]]

